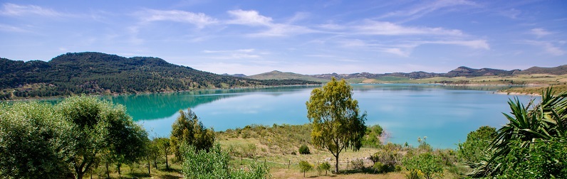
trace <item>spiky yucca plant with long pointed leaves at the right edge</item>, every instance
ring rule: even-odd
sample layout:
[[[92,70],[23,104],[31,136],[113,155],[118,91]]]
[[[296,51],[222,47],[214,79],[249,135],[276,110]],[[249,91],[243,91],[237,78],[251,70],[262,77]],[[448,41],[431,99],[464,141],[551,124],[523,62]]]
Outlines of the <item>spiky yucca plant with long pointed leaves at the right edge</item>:
[[[543,91],[539,104],[534,104],[532,99],[528,105],[524,106],[517,97],[510,99],[508,104],[511,114],[504,114],[509,123],[497,131],[496,138],[487,148],[486,156],[482,157],[479,163],[469,163],[469,166],[474,168],[469,176],[496,176],[501,175],[505,170],[516,168],[519,166],[518,160],[514,163],[506,162],[510,161],[508,158],[510,153],[517,155],[517,151],[521,151],[522,148],[537,150],[534,148],[536,141],[565,143],[567,136],[566,97],[567,92],[555,94],[549,87]],[[514,157],[529,160],[531,156]],[[567,159],[559,158],[558,160]]]

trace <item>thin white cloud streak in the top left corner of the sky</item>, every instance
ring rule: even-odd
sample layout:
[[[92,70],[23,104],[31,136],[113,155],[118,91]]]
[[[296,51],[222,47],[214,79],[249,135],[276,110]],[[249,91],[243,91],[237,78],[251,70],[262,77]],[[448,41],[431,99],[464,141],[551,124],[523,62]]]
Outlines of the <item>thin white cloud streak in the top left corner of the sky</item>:
[[[6,3],[4,9],[0,11],[4,16],[26,16],[26,15],[39,15],[39,16],[64,16],[65,14],[53,11],[52,9],[45,9],[41,6],[21,6],[18,4]]]

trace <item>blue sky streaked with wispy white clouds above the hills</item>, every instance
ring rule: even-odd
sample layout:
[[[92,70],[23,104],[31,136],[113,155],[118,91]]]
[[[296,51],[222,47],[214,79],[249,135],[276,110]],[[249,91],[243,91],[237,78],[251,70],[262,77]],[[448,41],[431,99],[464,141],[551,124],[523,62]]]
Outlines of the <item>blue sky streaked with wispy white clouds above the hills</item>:
[[[0,57],[151,56],[222,73],[567,64],[567,1],[0,1]]]

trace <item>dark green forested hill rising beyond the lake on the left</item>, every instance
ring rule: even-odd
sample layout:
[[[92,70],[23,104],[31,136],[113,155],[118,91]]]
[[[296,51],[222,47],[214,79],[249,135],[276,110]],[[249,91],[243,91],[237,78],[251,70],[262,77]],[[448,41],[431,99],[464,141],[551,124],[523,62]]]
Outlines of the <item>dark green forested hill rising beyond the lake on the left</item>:
[[[191,89],[320,84],[306,80],[254,80],[173,65],[160,58],[66,53],[49,62],[0,58],[0,99],[69,94],[172,92]]]

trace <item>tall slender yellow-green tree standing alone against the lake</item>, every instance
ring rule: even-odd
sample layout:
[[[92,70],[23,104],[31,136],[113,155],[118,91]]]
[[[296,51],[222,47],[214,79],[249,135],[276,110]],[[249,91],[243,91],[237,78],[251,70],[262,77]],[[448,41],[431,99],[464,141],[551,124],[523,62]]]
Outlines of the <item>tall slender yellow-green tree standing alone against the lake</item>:
[[[313,122],[313,144],[331,151],[337,173],[340,152],[346,148],[358,151],[366,131],[366,113],[359,114],[358,101],[352,96],[353,87],[333,77],[322,88],[313,89],[306,102],[307,117]]]

